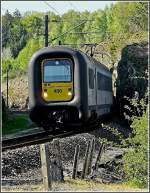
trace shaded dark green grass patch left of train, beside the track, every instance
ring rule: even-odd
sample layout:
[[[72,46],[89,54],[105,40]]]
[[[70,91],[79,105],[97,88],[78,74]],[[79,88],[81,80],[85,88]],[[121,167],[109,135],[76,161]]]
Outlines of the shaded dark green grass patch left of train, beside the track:
[[[35,124],[30,124],[28,115],[9,115],[2,124],[2,134],[14,134],[34,127]]]

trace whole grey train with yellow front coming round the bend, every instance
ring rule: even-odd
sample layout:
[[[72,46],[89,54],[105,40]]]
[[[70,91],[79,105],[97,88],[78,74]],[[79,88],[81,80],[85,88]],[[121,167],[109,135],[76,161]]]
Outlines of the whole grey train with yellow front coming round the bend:
[[[113,108],[112,73],[84,52],[37,51],[28,69],[30,119],[45,131],[92,124]]]

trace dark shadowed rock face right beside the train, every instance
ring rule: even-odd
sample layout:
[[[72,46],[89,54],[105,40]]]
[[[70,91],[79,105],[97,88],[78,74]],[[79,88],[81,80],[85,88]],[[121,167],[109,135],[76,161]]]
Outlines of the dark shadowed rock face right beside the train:
[[[117,67],[116,98],[121,112],[128,105],[124,97],[140,100],[148,88],[148,42],[127,45]]]

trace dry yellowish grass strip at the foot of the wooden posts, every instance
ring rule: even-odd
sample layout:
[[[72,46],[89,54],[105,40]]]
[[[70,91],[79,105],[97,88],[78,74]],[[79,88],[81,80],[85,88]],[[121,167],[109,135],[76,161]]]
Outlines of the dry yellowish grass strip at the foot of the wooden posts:
[[[17,191],[45,191],[44,185],[26,185],[26,186],[18,186],[18,187],[3,187],[3,191],[11,191],[11,192],[17,192]],[[100,182],[94,182],[94,181],[87,181],[87,180],[80,180],[80,179],[70,179],[68,177],[65,178],[64,183],[53,183],[52,184],[52,191],[81,191],[81,192],[87,192],[87,191],[109,191],[109,192],[147,192],[148,189],[139,189],[139,188],[133,188],[130,187],[128,184],[122,183],[122,184],[103,184]]]

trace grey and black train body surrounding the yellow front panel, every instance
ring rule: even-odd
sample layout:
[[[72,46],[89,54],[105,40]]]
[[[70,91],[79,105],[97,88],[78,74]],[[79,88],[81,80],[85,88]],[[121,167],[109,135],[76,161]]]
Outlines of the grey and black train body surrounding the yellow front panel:
[[[73,97],[70,101],[45,102],[41,96],[41,63],[47,58],[68,58],[73,63]],[[110,113],[113,105],[112,74],[85,53],[63,46],[36,52],[29,64],[29,108],[33,122],[56,125],[52,112],[66,112],[63,125],[84,125]]]

